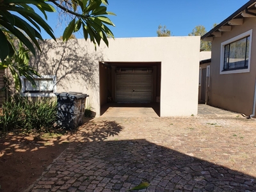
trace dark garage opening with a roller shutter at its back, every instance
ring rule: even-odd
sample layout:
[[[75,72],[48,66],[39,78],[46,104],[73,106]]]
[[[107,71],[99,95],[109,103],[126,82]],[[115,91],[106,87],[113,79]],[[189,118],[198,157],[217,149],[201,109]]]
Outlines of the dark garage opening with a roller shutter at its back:
[[[99,77],[100,115],[113,108],[118,108],[116,113],[120,114],[138,110],[145,115],[151,108],[154,115],[160,116],[161,62],[102,61]]]

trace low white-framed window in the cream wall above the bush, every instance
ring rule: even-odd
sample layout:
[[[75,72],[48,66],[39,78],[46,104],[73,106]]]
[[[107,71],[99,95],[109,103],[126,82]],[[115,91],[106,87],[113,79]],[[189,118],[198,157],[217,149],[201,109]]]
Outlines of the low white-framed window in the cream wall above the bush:
[[[35,76],[36,86],[33,86],[26,77],[21,77],[22,95],[27,97],[55,97],[56,76]]]

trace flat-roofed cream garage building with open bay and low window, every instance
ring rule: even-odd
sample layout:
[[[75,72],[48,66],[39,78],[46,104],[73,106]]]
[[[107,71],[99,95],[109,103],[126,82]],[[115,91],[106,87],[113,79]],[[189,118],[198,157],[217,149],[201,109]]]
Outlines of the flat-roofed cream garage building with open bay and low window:
[[[22,78],[23,95],[87,93],[95,116],[107,102],[159,104],[159,116],[197,114],[199,36],[109,39],[97,51],[84,39],[41,44],[31,65],[42,78],[37,90]]]

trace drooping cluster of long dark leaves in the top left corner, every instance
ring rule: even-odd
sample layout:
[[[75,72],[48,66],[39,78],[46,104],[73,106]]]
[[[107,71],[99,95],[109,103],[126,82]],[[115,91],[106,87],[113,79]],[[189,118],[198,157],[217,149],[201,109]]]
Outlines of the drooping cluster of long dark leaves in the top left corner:
[[[55,37],[51,27],[28,4],[33,4],[41,10],[45,15],[45,19],[47,19],[45,12],[55,11],[44,0],[2,0],[0,1],[0,26],[3,26],[8,33],[17,37],[35,55],[36,51],[33,44],[40,49],[37,39],[43,40],[40,35],[41,28],[52,38],[55,39]],[[22,17],[26,20],[22,19]],[[6,36],[6,33],[0,29],[0,59],[2,62],[7,56],[12,57],[15,53],[15,47]]]

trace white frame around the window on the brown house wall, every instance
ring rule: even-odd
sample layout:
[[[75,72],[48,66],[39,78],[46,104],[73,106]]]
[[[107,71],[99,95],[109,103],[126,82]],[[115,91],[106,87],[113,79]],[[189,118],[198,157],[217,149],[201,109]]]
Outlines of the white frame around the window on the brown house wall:
[[[223,70],[224,66],[224,54],[225,54],[225,45],[231,44],[232,42],[236,42],[237,40],[241,40],[242,38],[250,36],[250,42],[249,42],[249,52],[248,52],[248,68],[234,68],[232,70]],[[250,61],[251,61],[251,51],[252,51],[252,29],[249,31],[246,31],[240,35],[237,35],[233,38],[230,38],[229,40],[226,40],[225,42],[221,43],[221,56],[220,56],[220,74],[239,74],[239,73],[246,73],[250,72]]]

